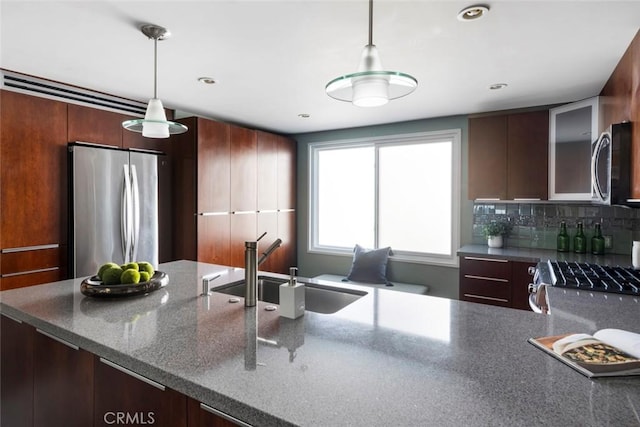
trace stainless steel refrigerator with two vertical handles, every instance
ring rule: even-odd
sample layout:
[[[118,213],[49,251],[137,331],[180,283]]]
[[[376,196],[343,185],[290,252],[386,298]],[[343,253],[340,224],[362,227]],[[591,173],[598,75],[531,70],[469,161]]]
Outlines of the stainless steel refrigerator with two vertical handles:
[[[158,265],[158,155],[69,144],[72,277],[106,262]]]

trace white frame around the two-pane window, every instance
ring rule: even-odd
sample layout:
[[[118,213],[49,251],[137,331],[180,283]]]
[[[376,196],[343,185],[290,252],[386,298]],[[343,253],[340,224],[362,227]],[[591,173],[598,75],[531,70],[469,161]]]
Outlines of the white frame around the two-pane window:
[[[374,174],[374,191],[375,191],[375,246],[378,246],[378,176],[379,148],[382,146],[422,144],[428,142],[451,142],[451,248],[450,255],[432,254],[432,253],[416,253],[394,250],[391,255],[392,260],[412,262],[419,264],[435,264],[441,266],[457,267],[458,257],[456,251],[460,246],[460,206],[461,206],[461,175],[462,175],[462,144],[461,129],[446,129],[438,131],[426,131],[409,134],[395,134],[377,137],[364,137],[354,139],[340,139],[322,142],[312,142],[309,144],[308,150],[308,236],[307,251],[309,253],[352,256],[353,248],[342,248],[336,246],[318,245],[318,154],[322,150],[335,148],[353,148],[369,146],[375,150],[375,174]],[[393,249],[393,248],[392,248]]]

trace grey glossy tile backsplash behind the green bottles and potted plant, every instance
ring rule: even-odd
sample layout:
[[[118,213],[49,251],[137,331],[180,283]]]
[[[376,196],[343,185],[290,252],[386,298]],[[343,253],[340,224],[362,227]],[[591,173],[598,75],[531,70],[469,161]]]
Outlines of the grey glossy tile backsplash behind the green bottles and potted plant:
[[[513,226],[505,240],[507,247],[556,249],[556,237],[562,221],[567,223],[571,238],[576,233],[576,224],[582,222],[588,251],[591,250],[590,239],[596,223],[602,224],[602,234],[611,241],[611,247],[605,252],[630,254],[632,242],[640,240],[640,209],[581,204],[483,202],[473,205],[473,243],[486,244],[482,228],[484,224],[496,220],[509,221]]]

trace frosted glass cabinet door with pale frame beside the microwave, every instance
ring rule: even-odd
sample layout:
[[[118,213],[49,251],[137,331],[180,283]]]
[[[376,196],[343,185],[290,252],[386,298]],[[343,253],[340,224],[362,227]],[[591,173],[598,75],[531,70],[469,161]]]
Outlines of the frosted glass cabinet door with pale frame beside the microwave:
[[[600,98],[549,110],[549,200],[591,200],[591,153],[602,130]]]

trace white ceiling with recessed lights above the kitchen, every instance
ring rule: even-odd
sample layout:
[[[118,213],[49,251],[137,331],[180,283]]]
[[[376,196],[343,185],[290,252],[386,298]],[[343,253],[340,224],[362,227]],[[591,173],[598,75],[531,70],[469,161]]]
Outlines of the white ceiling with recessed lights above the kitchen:
[[[457,20],[472,4],[374,2],[385,69],[419,82],[377,108],[324,92],[356,71],[367,0],[0,0],[0,67],[146,102],[153,42],[139,27],[161,25],[172,33],[158,44],[165,107],[293,134],[594,96],[640,25],[640,1],[488,1],[486,17]]]

